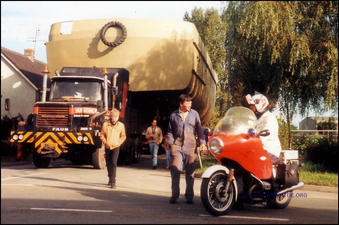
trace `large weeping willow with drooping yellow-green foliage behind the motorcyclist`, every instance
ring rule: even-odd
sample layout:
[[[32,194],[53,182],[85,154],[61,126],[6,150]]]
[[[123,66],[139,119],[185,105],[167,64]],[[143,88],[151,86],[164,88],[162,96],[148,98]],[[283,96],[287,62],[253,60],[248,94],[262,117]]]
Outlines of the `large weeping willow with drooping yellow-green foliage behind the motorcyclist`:
[[[338,112],[338,1],[249,1],[238,12],[237,95],[265,94],[289,125],[297,112]]]

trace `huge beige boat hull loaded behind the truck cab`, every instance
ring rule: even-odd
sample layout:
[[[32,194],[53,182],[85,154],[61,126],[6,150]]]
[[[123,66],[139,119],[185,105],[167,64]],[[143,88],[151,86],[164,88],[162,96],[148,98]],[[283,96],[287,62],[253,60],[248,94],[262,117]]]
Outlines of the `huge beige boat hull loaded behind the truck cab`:
[[[122,23],[127,37],[116,47],[100,38],[104,25]],[[105,38],[116,41],[119,27],[107,30]],[[129,90],[177,99],[186,93],[193,98],[202,121],[213,112],[217,75],[194,24],[157,19],[89,19],[55,23],[46,43],[50,75],[63,67],[109,67],[129,71]],[[177,106],[178,103],[176,103]],[[171,109],[169,109],[171,110]]]

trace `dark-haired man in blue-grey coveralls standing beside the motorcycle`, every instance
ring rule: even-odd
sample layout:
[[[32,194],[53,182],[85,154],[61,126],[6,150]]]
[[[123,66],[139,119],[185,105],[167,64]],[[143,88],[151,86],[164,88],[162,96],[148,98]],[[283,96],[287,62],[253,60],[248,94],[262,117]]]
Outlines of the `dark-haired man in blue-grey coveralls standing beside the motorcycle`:
[[[190,95],[179,96],[180,107],[170,114],[168,142],[170,145],[170,175],[172,179],[172,196],[170,203],[176,203],[180,195],[180,174],[185,164],[186,170],[186,203],[193,203],[194,174],[197,158],[197,147],[206,148],[205,136],[202,130],[198,112],[191,109]],[[196,139],[195,137],[198,137]]]

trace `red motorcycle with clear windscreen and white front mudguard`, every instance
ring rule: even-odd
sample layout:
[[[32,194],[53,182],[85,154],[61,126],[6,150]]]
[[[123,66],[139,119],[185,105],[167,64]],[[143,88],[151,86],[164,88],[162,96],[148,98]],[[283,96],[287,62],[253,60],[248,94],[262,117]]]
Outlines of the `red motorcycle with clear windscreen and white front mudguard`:
[[[244,107],[228,110],[213,132],[204,130],[209,138],[208,150],[220,165],[214,165],[202,174],[201,202],[213,216],[229,213],[243,204],[266,203],[271,208],[286,208],[299,182],[297,150],[282,150],[271,163],[256,133],[254,112]]]

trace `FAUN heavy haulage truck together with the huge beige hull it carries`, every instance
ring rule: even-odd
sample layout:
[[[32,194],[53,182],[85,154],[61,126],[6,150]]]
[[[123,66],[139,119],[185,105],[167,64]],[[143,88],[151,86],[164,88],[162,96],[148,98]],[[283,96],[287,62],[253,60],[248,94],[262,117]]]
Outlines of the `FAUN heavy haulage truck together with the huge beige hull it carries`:
[[[37,168],[51,159],[106,166],[99,135],[109,112],[119,110],[127,139],[119,163],[138,163],[143,132],[153,118],[164,134],[178,96],[207,123],[217,76],[194,24],[155,19],[90,19],[52,24],[45,43],[42,101],[11,141],[29,148]],[[53,73],[49,73],[49,71]],[[47,78],[51,79],[49,99]]]

